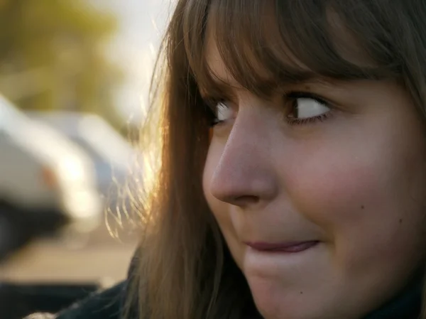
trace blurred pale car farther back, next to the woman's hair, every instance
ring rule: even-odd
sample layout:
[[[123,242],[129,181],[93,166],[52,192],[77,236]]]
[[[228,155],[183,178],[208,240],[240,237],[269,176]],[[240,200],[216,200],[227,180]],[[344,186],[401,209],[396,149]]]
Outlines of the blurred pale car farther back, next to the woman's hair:
[[[89,154],[97,186],[109,210],[129,210],[127,182],[138,176],[136,151],[123,136],[96,114],[81,112],[27,112],[32,118],[60,130]]]

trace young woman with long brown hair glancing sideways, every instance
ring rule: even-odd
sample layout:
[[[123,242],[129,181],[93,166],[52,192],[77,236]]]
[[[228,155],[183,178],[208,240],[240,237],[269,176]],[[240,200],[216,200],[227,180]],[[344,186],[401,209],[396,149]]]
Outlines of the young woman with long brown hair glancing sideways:
[[[426,318],[425,16],[179,0],[135,266],[58,318]]]

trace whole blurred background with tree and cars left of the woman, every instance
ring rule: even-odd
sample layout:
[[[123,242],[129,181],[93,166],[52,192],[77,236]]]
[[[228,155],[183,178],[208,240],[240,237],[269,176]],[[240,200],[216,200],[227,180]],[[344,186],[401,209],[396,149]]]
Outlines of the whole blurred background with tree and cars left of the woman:
[[[137,132],[172,9],[0,0],[0,318],[23,308],[11,287],[22,297],[125,278],[137,245],[126,215],[143,176]]]

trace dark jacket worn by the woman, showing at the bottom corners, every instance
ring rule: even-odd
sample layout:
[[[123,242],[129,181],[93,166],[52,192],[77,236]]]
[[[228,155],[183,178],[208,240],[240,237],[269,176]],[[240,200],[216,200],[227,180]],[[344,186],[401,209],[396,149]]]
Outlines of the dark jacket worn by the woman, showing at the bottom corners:
[[[129,278],[133,272],[134,259],[129,270]],[[367,315],[364,319],[417,319],[422,303],[422,278],[418,278],[397,298],[382,308]],[[128,280],[63,310],[56,315],[35,314],[25,319],[124,319],[122,318],[126,303]],[[135,307],[136,308],[136,307]],[[137,319],[136,309],[130,319]],[[128,319],[128,318],[126,318]],[[241,318],[244,319],[244,318]]]

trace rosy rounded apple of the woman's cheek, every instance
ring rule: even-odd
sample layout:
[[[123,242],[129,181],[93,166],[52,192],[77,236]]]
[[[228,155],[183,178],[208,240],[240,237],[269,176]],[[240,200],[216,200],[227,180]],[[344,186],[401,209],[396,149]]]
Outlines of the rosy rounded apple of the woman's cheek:
[[[349,223],[361,217],[366,207],[381,202],[381,186],[386,184],[381,181],[381,168],[364,166],[344,155],[330,156],[328,151],[313,159],[299,159],[288,170],[285,187],[296,210],[315,223],[323,227],[339,220]]]

